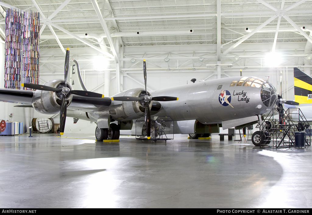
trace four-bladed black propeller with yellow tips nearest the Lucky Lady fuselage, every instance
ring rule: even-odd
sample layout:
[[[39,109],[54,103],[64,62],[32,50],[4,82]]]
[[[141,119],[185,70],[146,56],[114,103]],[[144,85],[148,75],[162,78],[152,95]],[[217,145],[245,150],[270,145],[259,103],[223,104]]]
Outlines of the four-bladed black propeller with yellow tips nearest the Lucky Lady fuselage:
[[[146,72],[146,61],[143,60],[143,72],[144,72],[144,85],[145,85],[145,92],[144,96],[141,97],[132,97],[132,96],[116,96],[112,97],[112,100],[115,101],[144,101],[145,106],[145,127],[146,127],[146,134],[147,139],[151,138],[151,114],[149,110],[149,101],[176,101],[178,100],[178,97],[172,97],[172,96],[155,96],[152,97],[148,95],[146,90],[146,82],[147,82],[147,72]]]

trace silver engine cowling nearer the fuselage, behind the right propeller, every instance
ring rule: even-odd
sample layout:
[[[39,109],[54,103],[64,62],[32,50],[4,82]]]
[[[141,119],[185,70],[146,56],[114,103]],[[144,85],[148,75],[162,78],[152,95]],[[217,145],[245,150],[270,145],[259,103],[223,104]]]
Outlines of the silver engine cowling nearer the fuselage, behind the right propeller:
[[[148,95],[151,95],[147,92]],[[115,96],[134,96],[142,97],[145,95],[145,90],[143,88],[135,88],[123,91]],[[152,107],[152,101],[149,101],[149,108]],[[122,121],[134,120],[144,116],[145,106],[143,101],[123,101],[120,105],[112,105],[109,114],[114,120]]]

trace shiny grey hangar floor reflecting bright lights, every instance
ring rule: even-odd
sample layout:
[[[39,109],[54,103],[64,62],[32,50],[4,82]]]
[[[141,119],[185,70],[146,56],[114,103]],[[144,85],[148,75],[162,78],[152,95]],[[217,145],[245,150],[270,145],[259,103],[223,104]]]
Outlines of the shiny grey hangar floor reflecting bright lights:
[[[28,136],[0,136],[0,208],[312,208],[310,147]]]

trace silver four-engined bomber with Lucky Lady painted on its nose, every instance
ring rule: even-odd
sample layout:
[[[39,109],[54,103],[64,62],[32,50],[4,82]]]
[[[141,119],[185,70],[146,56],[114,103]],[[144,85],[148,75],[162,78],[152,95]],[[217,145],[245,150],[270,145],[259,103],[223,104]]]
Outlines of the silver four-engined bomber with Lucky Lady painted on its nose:
[[[112,97],[102,97],[85,90],[73,90],[67,81],[69,49],[67,51],[65,81],[56,79],[44,85],[22,85],[36,91],[0,89],[0,101],[31,105],[43,114],[60,113],[61,134],[66,114],[95,122],[96,139],[102,141],[119,139],[120,129],[132,129],[135,126],[133,121],[140,118],[145,120],[149,139],[151,116],[171,117],[173,133],[189,134],[192,139],[219,133],[221,126],[227,129],[256,123],[262,125],[261,115],[270,111],[278,100],[271,83],[251,76],[221,78],[148,92],[145,61],[145,89],[134,88]]]

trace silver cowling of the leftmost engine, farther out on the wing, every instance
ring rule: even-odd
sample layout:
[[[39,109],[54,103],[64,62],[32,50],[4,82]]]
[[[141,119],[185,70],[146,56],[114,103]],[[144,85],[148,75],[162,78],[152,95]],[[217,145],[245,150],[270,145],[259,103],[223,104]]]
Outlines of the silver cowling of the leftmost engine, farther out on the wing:
[[[45,86],[55,87],[55,88],[63,88],[64,80],[56,79],[52,81],[48,81],[44,84]],[[70,90],[73,90],[73,87],[67,81],[67,87]],[[67,94],[67,107],[71,104],[71,100],[73,98],[72,94]],[[63,94],[61,91],[53,92],[53,91],[41,91],[41,96],[37,98],[32,103],[32,106],[40,113],[44,114],[58,114],[61,110]]]

